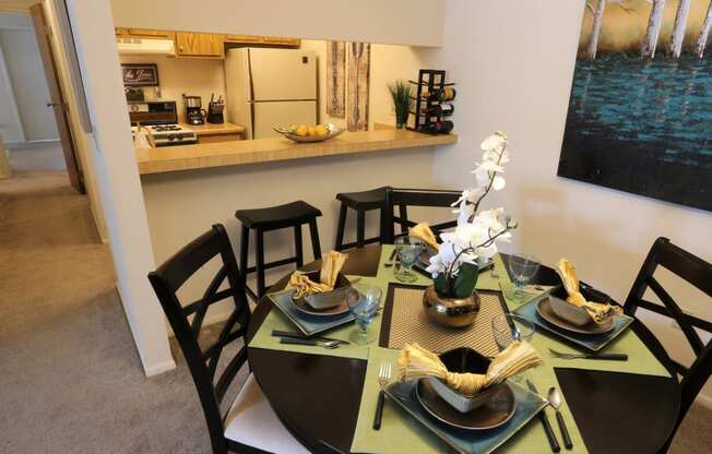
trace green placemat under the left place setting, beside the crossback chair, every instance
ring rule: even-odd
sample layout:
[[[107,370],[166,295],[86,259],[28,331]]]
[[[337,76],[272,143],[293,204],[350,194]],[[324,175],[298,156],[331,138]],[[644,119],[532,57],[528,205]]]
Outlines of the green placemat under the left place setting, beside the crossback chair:
[[[378,277],[363,277],[359,283],[354,284],[354,287],[359,288],[359,286],[364,285],[379,286],[383,292],[381,297],[381,303],[385,301],[385,292],[388,291],[387,282]],[[382,318],[383,316],[381,311],[373,318],[371,325],[368,327],[370,335],[375,339],[373,343],[369,345],[357,345],[351,340],[349,336],[357,330],[357,326],[354,322],[348,322],[342,326],[318,334],[317,336],[348,340],[351,343],[347,345],[342,345],[339,348],[327,349],[308,345],[280,344],[280,338],[272,336],[272,330],[293,332],[298,332],[299,330],[294,326],[294,323],[292,323],[292,321],[289,321],[289,319],[284,313],[282,313],[280,309],[272,308],[270,313],[264,319],[264,322],[262,322],[262,325],[254,334],[254,337],[252,337],[249,346],[252,348],[269,348],[273,350],[295,351],[311,355],[328,355],[345,358],[366,359],[368,358],[369,346],[378,344],[378,335],[381,332]]]

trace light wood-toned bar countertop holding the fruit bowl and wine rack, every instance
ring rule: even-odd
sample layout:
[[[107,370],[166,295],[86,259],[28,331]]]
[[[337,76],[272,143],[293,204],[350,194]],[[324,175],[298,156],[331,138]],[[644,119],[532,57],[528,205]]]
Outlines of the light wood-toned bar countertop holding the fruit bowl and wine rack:
[[[213,127],[214,124],[206,124]],[[181,145],[161,148],[137,148],[139,172],[161,174],[210,167],[271,163],[355,153],[373,153],[448,145],[458,135],[428,135],[408,130],[344,132],[324,142],[296,143],[280,136],[249,141]]]

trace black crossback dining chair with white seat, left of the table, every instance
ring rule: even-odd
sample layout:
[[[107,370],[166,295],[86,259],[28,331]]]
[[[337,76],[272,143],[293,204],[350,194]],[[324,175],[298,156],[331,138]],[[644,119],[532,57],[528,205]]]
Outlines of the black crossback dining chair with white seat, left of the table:
[[[216,258],[219,258],[221,267],[202,298],[181,304],[176,292]],[[213,452],[307,454],[308,451],[292,437],[274,414],[251,373],[229,409],[225,414],[221,410],[227,390],[247,362],[245,334],[250,321],[245,276],[237,266],[225,227],[214,225],[156,271],[149,273],[149,280],[188,362],[203,407]],[[198,339],[205,314],[213,304],[223,300],[233,302],[232,313],[217,340],[202,349]],[[242,345],[224,370],[216,373],[223,349],[232,343]]]

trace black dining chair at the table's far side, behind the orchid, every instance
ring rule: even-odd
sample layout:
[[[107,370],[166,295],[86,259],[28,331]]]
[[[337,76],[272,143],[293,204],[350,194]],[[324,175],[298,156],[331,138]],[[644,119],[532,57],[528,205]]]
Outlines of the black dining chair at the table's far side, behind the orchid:
[[[417,223],[404,218],[407,207],[450,207],[462,195],[461,191],[449,191],[440,189],[396,189],[385,188],[385,203],[381,210],[381,238],[384,243],[393,243],[396,237],[407,235],[407,227]],[[394,207],[399,207],[399,215],[393,214]],[[401,226],[401,234],[395,235],[395,225]],[[456,220],[430,225],[432,232],[439,235],[442,230],[458,225]]]

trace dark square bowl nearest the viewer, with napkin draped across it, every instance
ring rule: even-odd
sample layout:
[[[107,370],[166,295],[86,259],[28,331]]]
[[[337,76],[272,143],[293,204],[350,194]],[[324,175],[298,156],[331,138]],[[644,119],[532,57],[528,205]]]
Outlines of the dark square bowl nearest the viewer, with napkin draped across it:
[[[440,360],[451,372],[471,372],[486,373],[490,360],[471,348],[455,348],[440,355]],[[444,402],[450,404],[460,413],[470,413],[489,402],[501,386],[507,386],[506,382],[490,386],[474,396],[466,396],[453,391],[439,379],[426,379],[432,385],[432,389]]]

